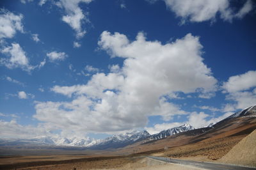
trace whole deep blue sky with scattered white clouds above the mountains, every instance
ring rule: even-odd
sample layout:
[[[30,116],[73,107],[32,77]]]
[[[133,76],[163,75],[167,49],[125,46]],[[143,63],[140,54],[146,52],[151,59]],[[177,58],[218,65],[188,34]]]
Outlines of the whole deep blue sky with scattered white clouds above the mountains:
[[[0,137],[100,139],[256,104],[254,0],[2,0]]]

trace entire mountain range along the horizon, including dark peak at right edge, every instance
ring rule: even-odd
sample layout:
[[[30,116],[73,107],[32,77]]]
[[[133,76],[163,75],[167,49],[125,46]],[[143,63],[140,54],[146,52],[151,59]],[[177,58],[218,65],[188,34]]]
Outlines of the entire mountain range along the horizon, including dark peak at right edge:
[[[230,118],[238,117],[256,117],[256,105],[247,107],[242,111],[236,112],[228,118],[218,122],[225,122]],[[191,132],[190,134],[203,133],[211,128],[214,128],[211,123],[205,128],[195,129],[191,125],[184,124],[180,127],[169,128],[163,130],[157,134],[150,135],[147,130],[143,131],[133,131],[125,134],[113,135],[107,137],[106,139],[91,139],[91,138],[61,138],[61,137],[35,137],[33,139],[0,139],[0,146],[79,146],[90,149],[105,150],[105,149],[115,149],[123,148],[133,143],[142,141],[142,143],[147,143],[148,141],[156,141],[159,139],[164,139],[166,137],[179,134],[182,132]]]

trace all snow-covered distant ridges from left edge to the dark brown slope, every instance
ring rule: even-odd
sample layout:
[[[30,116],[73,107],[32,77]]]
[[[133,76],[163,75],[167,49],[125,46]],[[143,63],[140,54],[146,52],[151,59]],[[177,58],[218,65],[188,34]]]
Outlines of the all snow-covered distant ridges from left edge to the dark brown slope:
[[[129,144],[133,144],[142,140],[157,140],[163,139],[170,135],[186,132],[195,129],[191,125],[185,124],[180,127],[169,128],[158,134],[150,135],[147,130],[133,131],[125,134],[113,135],[106,139],[91,139],[91,138],[58,138],[58,137],[35,137],[33,139],[0,139],[0,146],[11,144],[18,145],[53,145],[53,146],[82,146],[91,149],[104,150],[108,148],[122,148]]]

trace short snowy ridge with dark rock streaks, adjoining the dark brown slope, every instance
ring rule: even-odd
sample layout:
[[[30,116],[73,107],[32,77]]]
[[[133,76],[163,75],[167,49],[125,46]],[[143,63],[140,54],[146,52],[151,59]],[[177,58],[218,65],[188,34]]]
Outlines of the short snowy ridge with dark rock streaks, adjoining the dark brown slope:
[[[150,135],[149,140],[153,141],[153,140],[157,140],[157,139],[163,139],[167,136],[179,134],[180,132],[186,132],[188,130],[193,130],[193,129],[195,129],[195,128],[192,127],[191,125],[184,124],[180,127],[169,128],[167,130],[163,130],[163,131],[159,132],[158,134]]]

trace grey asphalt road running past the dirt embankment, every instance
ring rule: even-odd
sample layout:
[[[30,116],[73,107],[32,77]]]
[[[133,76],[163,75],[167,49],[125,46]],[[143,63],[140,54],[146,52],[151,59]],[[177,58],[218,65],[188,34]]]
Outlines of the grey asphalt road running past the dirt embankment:
[[[170,162],[173,164],[182,164],[185,166],[193,166],[193,167],[199,167],[203,169],[239,169],[239,170],[247,170],[247,169],[256,169],[253,167],[243,167],[243,166],[230,166],[225,164],[215,164],[215,163],[209,163],[209,162],[196,162],[191,160],[179,160],[179,159],[173,159],[173,158],[164,158],[164,157],[148,157],[153,158],[156,160],[161,160],[164,162]]]

